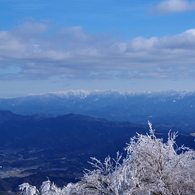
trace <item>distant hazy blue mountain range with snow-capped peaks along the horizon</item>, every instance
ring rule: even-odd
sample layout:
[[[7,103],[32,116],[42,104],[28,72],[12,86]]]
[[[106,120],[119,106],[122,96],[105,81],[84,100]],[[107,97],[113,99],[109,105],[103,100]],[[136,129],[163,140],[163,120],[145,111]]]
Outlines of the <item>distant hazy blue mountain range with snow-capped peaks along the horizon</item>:
[[[0,98],[0,109],[16,114],[84,114],[115,121],[153,123],[179,121],[189,125],[195,116],[195,92],[65,91],[26,97]]]

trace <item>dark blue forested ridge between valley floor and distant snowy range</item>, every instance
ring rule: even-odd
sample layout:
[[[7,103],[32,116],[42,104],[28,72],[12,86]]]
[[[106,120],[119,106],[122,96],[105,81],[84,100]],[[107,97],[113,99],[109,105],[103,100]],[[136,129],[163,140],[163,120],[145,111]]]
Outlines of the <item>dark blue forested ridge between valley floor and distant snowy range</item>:
[[[3,147],[37,147],[53,148],[79,144],[87,145],[100,142],[104,145],[112,141],[125,143],[130,137],[148,130],[147,121],[144,125],[130,122],[113,122],[79,114],[67,114],[57,117],[42,115],[22,116],[10,111],[0,111],[0,146]],[[158,127],[159,134],[166,134],[166,127]],[[175,128],[179,134],[190,135],[182,128]],[[193,133],[193,132],[192,132]],[[124,140],[125,139],[125,140]],[[100,144],[102,147],[103,145]],[[113,144],[115,146],[115,144]]]

